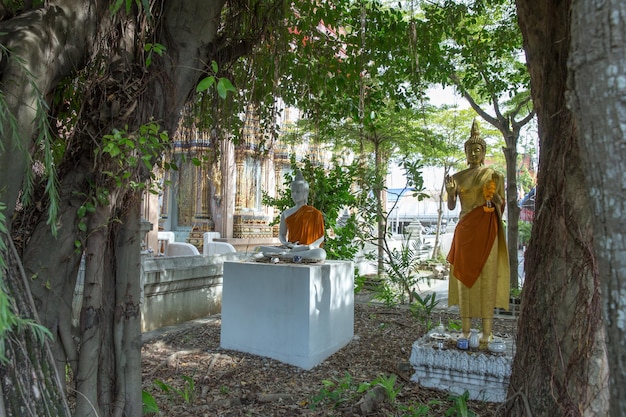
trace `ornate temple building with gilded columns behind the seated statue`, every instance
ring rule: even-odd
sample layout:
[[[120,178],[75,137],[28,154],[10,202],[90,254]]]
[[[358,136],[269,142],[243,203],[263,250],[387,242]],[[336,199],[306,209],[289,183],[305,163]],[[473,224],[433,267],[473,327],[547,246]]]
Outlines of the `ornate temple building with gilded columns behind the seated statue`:
[[[285,112],[282,125],[290,123]],[[327,164],[329,152],[317,144],[298,146],[264,140],[252,108],[246,112],[241,139],[219,140],[215,132],[182,127],[167,157],[177,169],[160,173],[161,192],[146,194],[143,217],[153,224],[147,246],[155,252],[162,243],[158,231],[173,232],[202,253],[205,232],[219,233],[218,241],[238,251],[279,244],[272,207],[262,204],[263,193],[276,196],[284,175],[291,171],[290,155]]]

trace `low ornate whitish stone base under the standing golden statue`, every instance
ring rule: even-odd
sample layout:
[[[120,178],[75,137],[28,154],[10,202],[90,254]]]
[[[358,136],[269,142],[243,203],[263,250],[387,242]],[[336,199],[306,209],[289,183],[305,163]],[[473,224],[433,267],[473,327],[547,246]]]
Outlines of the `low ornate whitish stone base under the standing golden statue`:
[[[468,391],[472,400],[503,402],[511,377],[513,340],[504,339],[504,353],[460,350],[456,347],[458,334],[452,335],[439,349],[430,335],[413,343],[410,363],[415,373],[412,381],[427,388],[441,389],[461,395]]]

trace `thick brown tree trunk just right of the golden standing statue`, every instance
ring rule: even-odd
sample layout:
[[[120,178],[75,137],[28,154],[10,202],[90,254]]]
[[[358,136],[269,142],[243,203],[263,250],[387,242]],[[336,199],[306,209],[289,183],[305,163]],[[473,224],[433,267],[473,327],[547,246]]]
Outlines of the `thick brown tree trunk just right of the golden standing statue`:
[[[565,105],[569,1],[517,0],[541,159],[507,416],[606,415],[606,352],[592,212]]]

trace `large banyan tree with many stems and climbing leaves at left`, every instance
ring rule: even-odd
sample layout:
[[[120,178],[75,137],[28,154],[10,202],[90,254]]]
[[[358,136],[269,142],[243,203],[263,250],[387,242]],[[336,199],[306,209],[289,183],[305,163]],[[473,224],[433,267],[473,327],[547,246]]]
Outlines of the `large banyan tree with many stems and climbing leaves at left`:
[[[69,415],[66,389],[76,416],[141,415],[141,193],[200,81],[282,7],[0,2],[0,415]]]

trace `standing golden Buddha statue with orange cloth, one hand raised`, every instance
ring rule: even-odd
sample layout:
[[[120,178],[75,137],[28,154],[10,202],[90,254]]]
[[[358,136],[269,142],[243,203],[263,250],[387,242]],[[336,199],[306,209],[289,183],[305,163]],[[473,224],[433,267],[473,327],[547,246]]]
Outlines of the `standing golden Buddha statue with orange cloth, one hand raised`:
[[[470,332],[472,318],[482,319],[481,342],[493,330],[494,308],[509,308],[510,271],[502,224],[505,206],[504,177],[483,167],[487,144],[474,120],[465,142],[469,168],[446,176],[448,208],[461,202],[459,222],[448,253],[450,279],[448,305],[459,305],[463,334]]]

